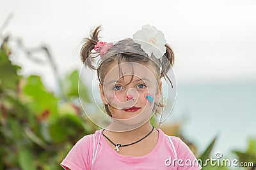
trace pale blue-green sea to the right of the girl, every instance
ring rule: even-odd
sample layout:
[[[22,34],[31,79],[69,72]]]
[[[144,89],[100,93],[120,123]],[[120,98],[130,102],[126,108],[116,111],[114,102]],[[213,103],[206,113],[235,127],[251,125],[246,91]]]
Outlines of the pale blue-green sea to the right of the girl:
[[[215,136],[213,156],[221,152],[232,157],[232,150],[245,151],[248,139],[256,139],[256,81],[178,84],[166,122],[179,121],[184,121],[182,132],[199,153]]]

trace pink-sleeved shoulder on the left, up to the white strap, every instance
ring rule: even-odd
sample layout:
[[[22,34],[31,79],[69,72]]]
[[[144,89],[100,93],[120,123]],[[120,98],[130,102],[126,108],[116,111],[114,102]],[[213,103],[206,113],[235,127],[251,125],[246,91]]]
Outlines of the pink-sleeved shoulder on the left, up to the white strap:
[[[77,141],[61,162],[64,169],[90,169],[93,153],[93,141],[97,141],[99,131],[89,134]],[[94,138],[94,139],[93,139]]]

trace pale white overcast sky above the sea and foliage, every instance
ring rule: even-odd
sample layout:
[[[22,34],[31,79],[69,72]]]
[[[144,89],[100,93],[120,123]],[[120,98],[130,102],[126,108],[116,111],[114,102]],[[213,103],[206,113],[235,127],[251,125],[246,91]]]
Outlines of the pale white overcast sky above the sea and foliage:
[[[1,3],[0,38],[10,35],[12,61],[21,74],[39,74],[56,89],[43,53],[31,62],[15,48],[49,47],[61,77],[81,69],[79,50],[90,30],[102,25],[102,41],[132,38],[145,24],[164,33],[175,52],[177,86],[189,83],[256,82],[256,1],[13,1]],[[6,27],[4,20],[12,13]]]

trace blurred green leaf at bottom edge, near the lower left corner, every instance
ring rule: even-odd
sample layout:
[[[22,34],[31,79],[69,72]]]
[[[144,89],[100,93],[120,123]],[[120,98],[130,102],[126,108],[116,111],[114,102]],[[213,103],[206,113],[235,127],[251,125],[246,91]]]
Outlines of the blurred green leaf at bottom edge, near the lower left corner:
[[[22,148],[19,151],[19,166],[23,170],[34,170],[36,169],[34,164],[34,158],[32,153],[26,148]]]

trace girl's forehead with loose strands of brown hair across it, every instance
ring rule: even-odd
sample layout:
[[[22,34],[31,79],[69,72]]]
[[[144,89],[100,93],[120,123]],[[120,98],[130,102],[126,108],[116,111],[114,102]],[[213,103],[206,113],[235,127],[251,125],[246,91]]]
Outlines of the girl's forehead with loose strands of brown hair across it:
[[[104,83],[131,80],[131,78],[132,81],[156,81],[154,68],[143,66],[137,62],[123,62],[121,64],[113,64],[113,66],[109,67],[109,71],[104,78]]]

